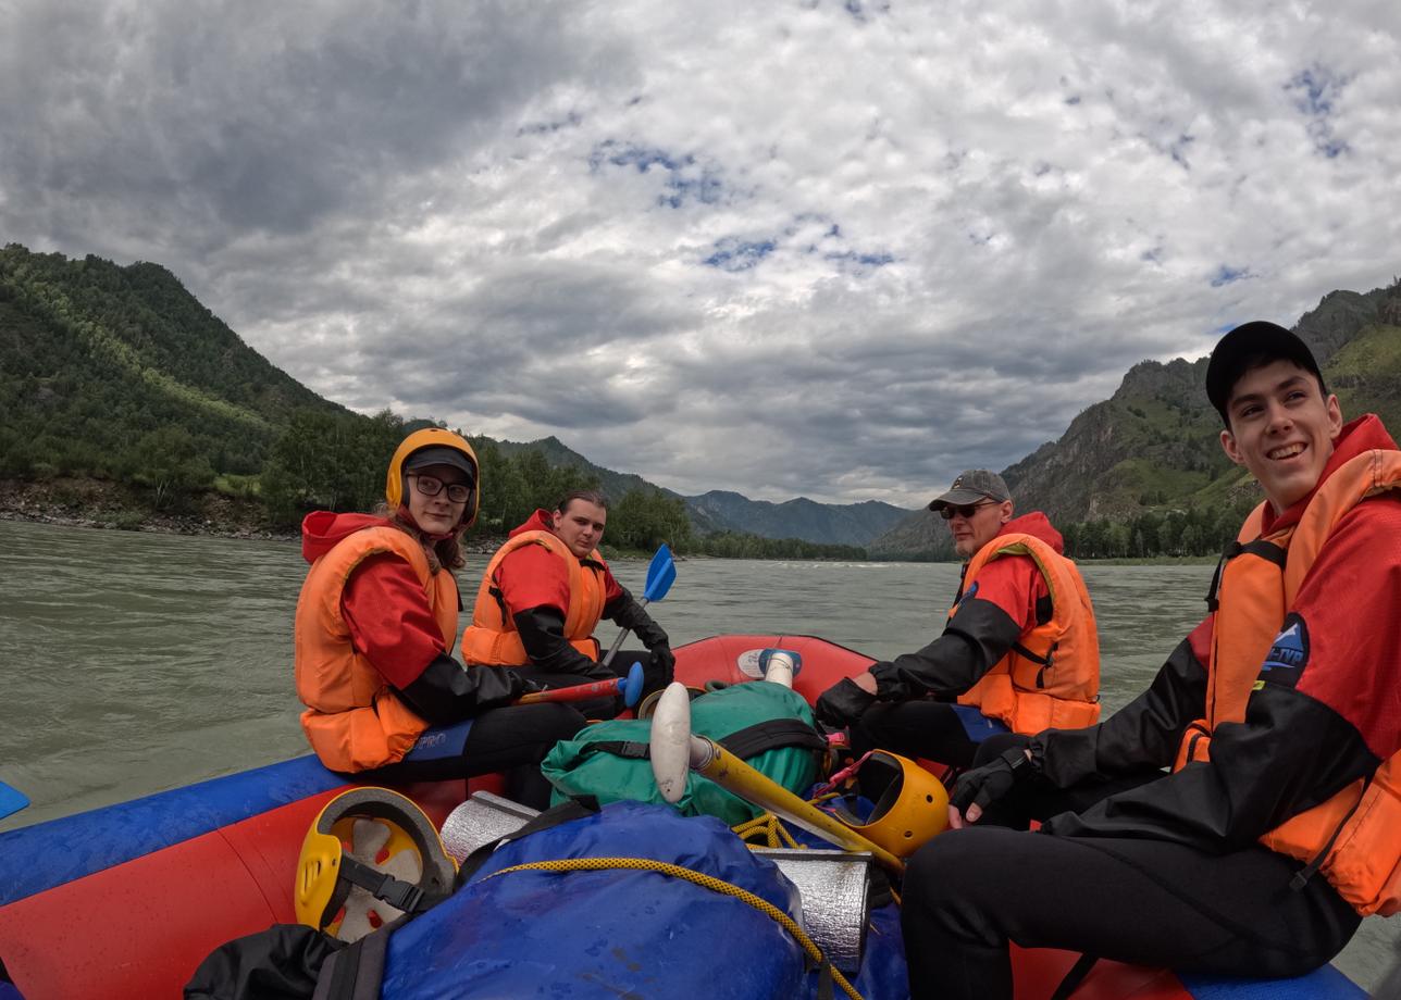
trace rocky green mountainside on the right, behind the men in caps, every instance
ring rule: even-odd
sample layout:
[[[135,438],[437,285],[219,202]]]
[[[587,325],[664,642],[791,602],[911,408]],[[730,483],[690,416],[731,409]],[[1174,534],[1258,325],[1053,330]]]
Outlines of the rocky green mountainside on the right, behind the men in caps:
[[[1373,412],[1393,431],[1401,427],[1401,284],[1330,293],[1295,331],[1344,416]],[[1205,378],[1206,359],[1133,366],[1058,441],[1003,469],[1017,507],[1044,510],[1082,557],[1220,552],[1259,492],[1222,452]],[[947,529],[927,511],[870,549],[951,557]]]

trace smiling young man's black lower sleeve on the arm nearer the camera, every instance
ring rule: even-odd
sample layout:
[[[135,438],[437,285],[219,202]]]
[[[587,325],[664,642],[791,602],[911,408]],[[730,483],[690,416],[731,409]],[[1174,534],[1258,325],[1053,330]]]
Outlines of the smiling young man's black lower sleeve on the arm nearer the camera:
[[[1083,814],[1062,812],[1042,831],[1152,838],[1224,853],[1254,843],[1379,763],[1352,723],[1331,707],[1265,683],[1251,696],[1244,723],[1216,727],[1210,761],[1111,796]]]

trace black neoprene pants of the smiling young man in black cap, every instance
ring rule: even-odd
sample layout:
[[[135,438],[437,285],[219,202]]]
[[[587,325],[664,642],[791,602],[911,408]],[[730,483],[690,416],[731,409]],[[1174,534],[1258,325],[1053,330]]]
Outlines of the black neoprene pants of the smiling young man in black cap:
[[[1164,840],[948,831],[905,873],[912,1000],[1013,996],[1007,941],[1184,972],[1303,975],[1359,917],[1323,877],[1259,846],[1208,854]]]

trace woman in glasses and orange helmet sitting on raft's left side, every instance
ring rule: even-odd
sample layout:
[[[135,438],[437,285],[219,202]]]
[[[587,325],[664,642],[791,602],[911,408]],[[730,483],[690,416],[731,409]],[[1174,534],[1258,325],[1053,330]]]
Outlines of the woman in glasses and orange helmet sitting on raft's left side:
[[[296,616],[301,727],[331,770],[388,782],[506,772],[507,793],[548,805],[539,761],[584,717],[567,704],[509,706],[537,685],[453,658],[453,570],[476,518],[478,462],[439,427],[409,434],[374,514],[315,511]]]

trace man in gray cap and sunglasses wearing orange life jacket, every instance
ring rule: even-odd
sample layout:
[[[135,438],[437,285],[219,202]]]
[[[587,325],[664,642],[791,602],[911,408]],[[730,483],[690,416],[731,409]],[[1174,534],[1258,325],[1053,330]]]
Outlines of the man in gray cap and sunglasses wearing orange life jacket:
[[[1094,724],[1094,609],[1061,532],[1040,511],[1013,517],[1007,483],[988,469],[961,473],[929,510],[948,522],[965,560],[943,634],[834,685],[817,700],[818,717],[849,725],[857,752],[954,768],[972,765],[979,749],[1000,752],[1009,732]]]

